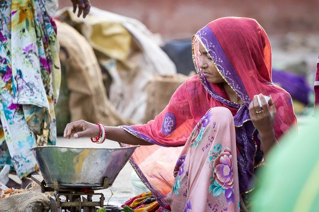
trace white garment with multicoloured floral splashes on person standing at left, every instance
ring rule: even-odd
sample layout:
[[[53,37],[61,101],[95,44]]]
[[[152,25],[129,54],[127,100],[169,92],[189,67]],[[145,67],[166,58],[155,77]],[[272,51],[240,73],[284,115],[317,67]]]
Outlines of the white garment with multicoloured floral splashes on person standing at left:
[[[56,143],[59,44],[56,0],[0,0],[0,169],[37,169],[30,147]]]

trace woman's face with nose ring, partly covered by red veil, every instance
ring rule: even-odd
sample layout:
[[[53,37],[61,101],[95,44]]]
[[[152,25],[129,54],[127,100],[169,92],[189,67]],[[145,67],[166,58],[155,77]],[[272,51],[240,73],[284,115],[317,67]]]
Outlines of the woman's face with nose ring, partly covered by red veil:
[[[225,82],[223,77],[217,71],[214,65],[214,61],[207,54],[205,48],[203,47],[201,43],[199,44],[199,51],[202,55],[202,59],[200,61],[199,67],[203,69],[203,73],[207,81],[214,84]]]

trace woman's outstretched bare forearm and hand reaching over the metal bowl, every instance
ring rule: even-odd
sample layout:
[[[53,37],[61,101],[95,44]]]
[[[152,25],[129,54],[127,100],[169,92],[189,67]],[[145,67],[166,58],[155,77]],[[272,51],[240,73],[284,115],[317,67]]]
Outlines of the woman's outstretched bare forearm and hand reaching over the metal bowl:
[[[130,145],[152,145],[152,143],[137,138],[121,127],[105,127],[105,129],[106,139]],[[70,139],[73,133],[74,138],[97,137],[100,133],[100,127],[84,120],[78,120],[66,125],[63,137]]]

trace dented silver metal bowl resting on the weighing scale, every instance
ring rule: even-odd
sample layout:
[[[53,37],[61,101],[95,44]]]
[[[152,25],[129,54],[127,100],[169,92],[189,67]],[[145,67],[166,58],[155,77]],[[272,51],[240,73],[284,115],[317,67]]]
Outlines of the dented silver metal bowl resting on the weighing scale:
[[[103,187],[105,178],[111,186],[137,147],[41,146],[30,150],[48,186],[57,180],[61,188],[94,188]]]

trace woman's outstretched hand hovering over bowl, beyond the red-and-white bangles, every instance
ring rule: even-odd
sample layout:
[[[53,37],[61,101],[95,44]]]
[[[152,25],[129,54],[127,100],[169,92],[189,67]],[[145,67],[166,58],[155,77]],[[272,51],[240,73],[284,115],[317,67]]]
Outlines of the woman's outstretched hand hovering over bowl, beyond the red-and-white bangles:
[[[63,137],[70,139],[72,133],[75,133],[74,138],[97,137],[100,134],[100,127],[85,120],[78,120],[66,125]]]

